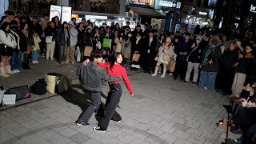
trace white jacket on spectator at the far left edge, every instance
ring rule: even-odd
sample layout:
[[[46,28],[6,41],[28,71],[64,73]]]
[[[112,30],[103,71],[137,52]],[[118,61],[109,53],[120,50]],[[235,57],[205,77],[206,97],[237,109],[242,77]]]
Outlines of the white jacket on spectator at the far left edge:
[[[3,30],[0,30],[0,43],[10,46],[11,48],[15,49],[17,47],[17,42],[12,33],[7,34]]]

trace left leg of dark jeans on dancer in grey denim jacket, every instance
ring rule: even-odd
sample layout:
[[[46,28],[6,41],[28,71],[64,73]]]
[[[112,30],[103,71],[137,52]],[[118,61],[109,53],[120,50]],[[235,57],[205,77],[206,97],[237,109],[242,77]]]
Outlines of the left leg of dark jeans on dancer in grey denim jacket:
[[[86,111],[78,118],[80,122],[88,122],[94,112],[98,110],[98,107],[101,105],[101,93],[98,91],[90,91],[90,99],[90,106],[87,107]]]

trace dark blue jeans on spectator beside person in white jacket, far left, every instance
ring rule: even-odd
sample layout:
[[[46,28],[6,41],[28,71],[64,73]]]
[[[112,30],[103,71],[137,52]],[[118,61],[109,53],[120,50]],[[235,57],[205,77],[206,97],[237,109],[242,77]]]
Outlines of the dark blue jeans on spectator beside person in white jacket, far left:
[[[10,60],[10,66],[13,70],[20,70],[22,69],[22,51],[14,51],[13,56]]]

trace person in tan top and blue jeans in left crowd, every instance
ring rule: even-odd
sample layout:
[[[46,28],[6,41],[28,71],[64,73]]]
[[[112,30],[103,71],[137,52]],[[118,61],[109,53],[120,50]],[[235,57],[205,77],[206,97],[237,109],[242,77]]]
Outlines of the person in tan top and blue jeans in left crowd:
[[[40,50],[39,43],[42,41],[41,41],[41,39],[38,35],[38,32],[36,30],[34,30],[34,32],[33,32],[33,38],[34,38],[34,47],[31,51],[31,53],[32,53],[31,61],[33,64],[36,64],[36,63],[38,63],[38,55],[39,55],[39,50]]]

